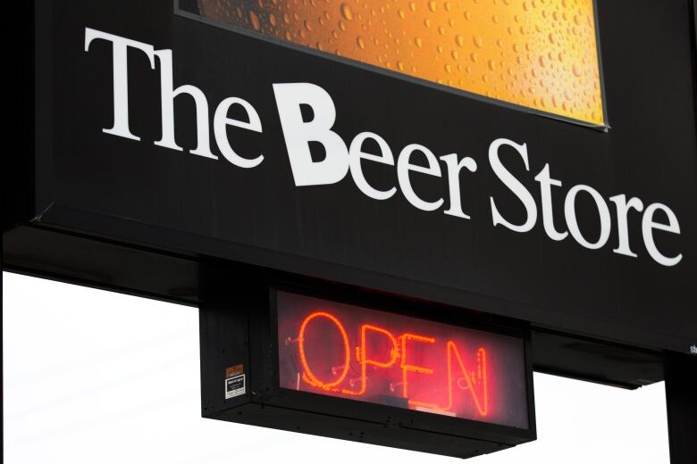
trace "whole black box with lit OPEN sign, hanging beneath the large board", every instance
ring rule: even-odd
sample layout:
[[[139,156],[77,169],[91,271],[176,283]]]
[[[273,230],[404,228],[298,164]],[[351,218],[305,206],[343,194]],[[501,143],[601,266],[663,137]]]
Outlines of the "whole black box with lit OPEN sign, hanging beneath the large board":
[[[365,306],[274,289],[203,305],[203,415],[463,458],[535,438],[525,333]]]

